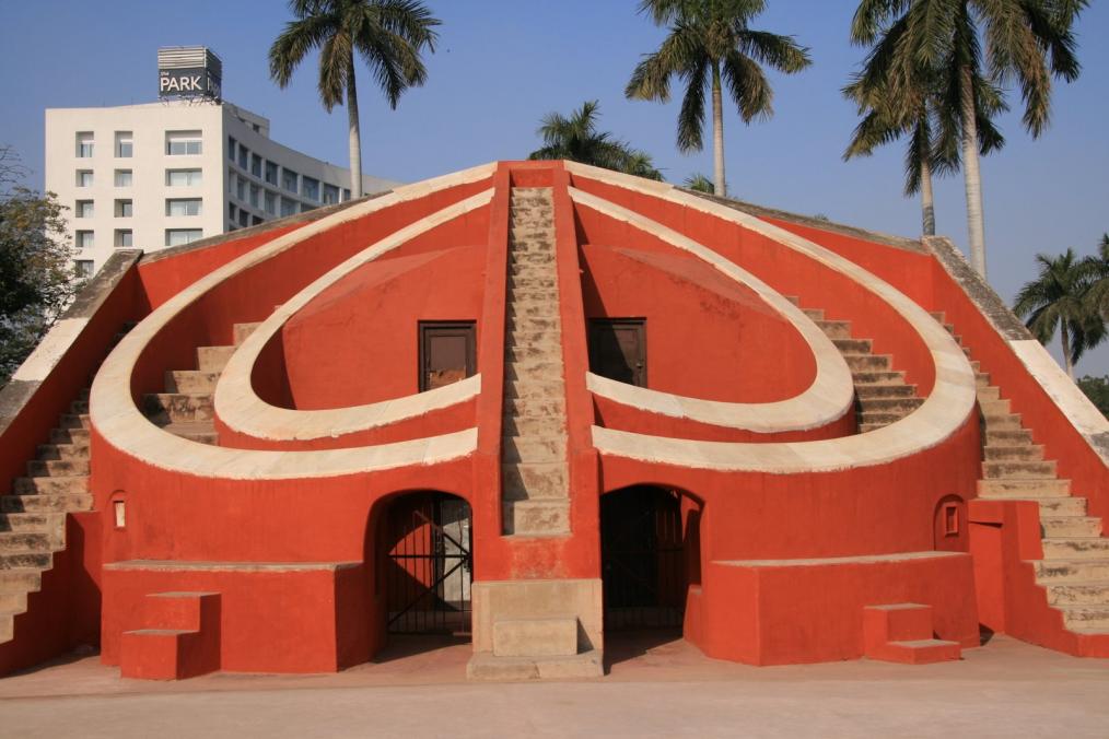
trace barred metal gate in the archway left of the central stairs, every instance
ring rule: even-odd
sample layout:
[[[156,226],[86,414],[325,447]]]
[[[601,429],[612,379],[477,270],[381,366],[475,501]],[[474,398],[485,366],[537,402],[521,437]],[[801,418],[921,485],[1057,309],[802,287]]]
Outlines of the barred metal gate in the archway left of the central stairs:
[[[470,633],[470,506],[452,495],[406,495],[389,507],[386,558],[390,634]]]

